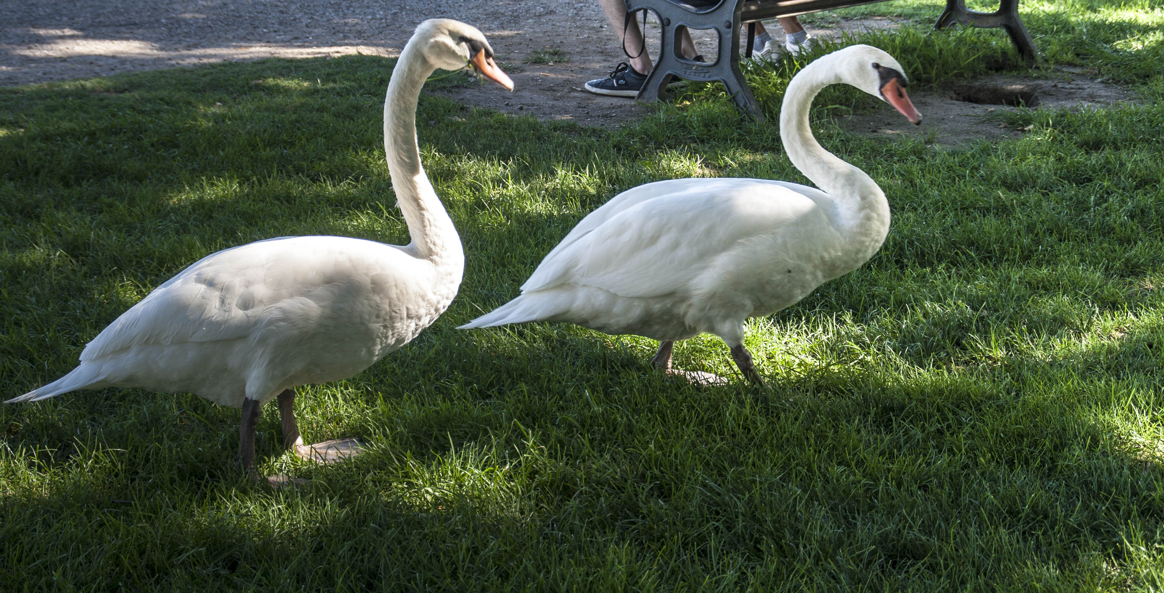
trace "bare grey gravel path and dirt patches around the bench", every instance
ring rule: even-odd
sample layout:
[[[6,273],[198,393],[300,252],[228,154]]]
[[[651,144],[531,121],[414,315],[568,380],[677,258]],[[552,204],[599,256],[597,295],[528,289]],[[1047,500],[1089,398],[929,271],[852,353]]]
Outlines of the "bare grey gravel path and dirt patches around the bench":
[[[397,56],[420,21],[447,16],[477,26],[499,62],[509,68],[513,93],[455,93],[459,100],[539,119],[563,119],[612,127],[650,111],[629,99],[580,91],[625,61],[605,16],[594,0],[37,0],[0,3],[0,85],[107,76],[118,72],[261,57],[312,57],[342,54]],[[656,26],[651,23],[651,31]],[[816,36],[863,27],[893,27],[886,19],[840,21]],[[773,27],[779,30],[779,27]],[[711,55],[711,40],[695,35]],[[648,45],[651,47],[651,45]],[[653,47],[658,47],[654,43]],[[541,52],[541,63],[527,63]],[[548,58],[556,56],[556,62]],[[548,58],[547,58],[548,57]],[[562,58],[566,58],[563,62]],[[1066,83],[1066,79],[1071,83]],[[1045,82],[1045,84],[1044,84]],[[1065,86],[1055,84],[1065,83]],[[1073,92],[1071,84],[1076,83]],[[1130,96],[1078,72],[1046,80],[994,80],[1035,84],[1044,105],[1110,105]],[[1045,87],[1045,89],[1044,89]],[[1062,90],[1062,92],[1059,92]],[[1014,134],[984,122],[988,108],[956,100],[949,91],[917,93],[927,115],[922,128],[882,110],[845,125],[863,134],[935,134],[941,143]]]

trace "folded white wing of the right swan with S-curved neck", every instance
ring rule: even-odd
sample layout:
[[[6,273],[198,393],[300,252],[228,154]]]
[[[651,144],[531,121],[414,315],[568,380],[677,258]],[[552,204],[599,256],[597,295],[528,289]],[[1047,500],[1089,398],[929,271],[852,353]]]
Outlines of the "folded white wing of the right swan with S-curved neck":
[[[674,193],[640,198],[568,245],[563,241],[538,266],[523,292],[585,284],[625,297],[672,294],[743,242],[805,216],[828,216],[816,200],[783,184],[698,181]]]

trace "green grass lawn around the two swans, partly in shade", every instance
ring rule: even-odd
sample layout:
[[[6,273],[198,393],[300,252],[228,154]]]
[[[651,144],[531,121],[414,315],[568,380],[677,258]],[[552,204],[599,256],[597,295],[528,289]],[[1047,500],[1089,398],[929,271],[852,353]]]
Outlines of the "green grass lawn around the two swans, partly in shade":
[[[858,41],[917,86],[1017,69],[1000,30],[930,34],[939,3],[847,15],[902,19]],[[823,94],[821,142],[881,184],[893,227],[861,269],[750,325],[769,393],[665,380],[637,337],[454,327],[516,296],[618,191],[804,182],[774,127],[712,86],[617,132],[424,98],[461,294],[412,344],[298,401],[305,438],[369,452],[293,459],[268,407],[261,471],[312,480],[271,490],[237,468],[240,412],[197,396],[0,407],[0,591],[1159,590],[1164,1],[1023,12],[1048,61],[1131,85],[1138,105],[1008,114],[1034,129],[950,150],[849,135],[828,115],[873,99]],[[800,65],[750,72],[769,114]],[[382,150],[391,68],[270,59],[0,89],[0,397],[68,372],[214,250],[406,242]],[[711,337],[675,362],[733,370]]]

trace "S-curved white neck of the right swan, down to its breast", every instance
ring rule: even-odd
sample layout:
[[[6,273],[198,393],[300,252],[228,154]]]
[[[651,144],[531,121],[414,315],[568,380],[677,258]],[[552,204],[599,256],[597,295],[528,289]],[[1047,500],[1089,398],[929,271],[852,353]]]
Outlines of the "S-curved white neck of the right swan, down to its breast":
[[[843,72],[849,69],[840,63],[844,57],[824,56],[793,77],[780,110],[780,139],[793,164],[833,199],[836,223],[858,243],[853,247],[865,247],[872,256],[889,231],[889,203],[865,171],[821,148],[808,118],[822,89],[846,82]]]

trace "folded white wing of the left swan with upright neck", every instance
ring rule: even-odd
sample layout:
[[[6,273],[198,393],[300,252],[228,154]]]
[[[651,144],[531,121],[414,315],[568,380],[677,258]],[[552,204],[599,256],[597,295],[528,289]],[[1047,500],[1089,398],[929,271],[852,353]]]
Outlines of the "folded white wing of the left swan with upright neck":
[[[363,269],[372,259],[361,252],[399,253],[386,247],[339,237],[291,237],[211,254],[122,313],[88,343],[80,359],[141,345],[243,338],[261,327],[264,317],[297,308],[297,299],[374,273]]]

